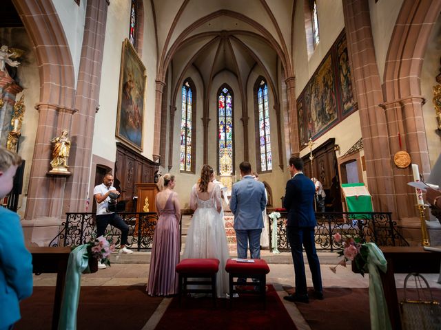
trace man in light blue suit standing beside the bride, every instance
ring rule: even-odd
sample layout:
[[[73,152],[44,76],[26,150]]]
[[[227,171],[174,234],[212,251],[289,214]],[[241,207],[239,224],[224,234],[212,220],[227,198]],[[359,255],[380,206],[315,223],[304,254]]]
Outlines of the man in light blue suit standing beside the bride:
[[[251,258],[260,259],[262,211],[267,206],[265,186],[254,179],[249,162],[241,162],[239,168],[242,180],[233,185],[232,199],[229,201],[229,208],[234,214],[237,256],[240,259],[247,259],[249,243]]]

